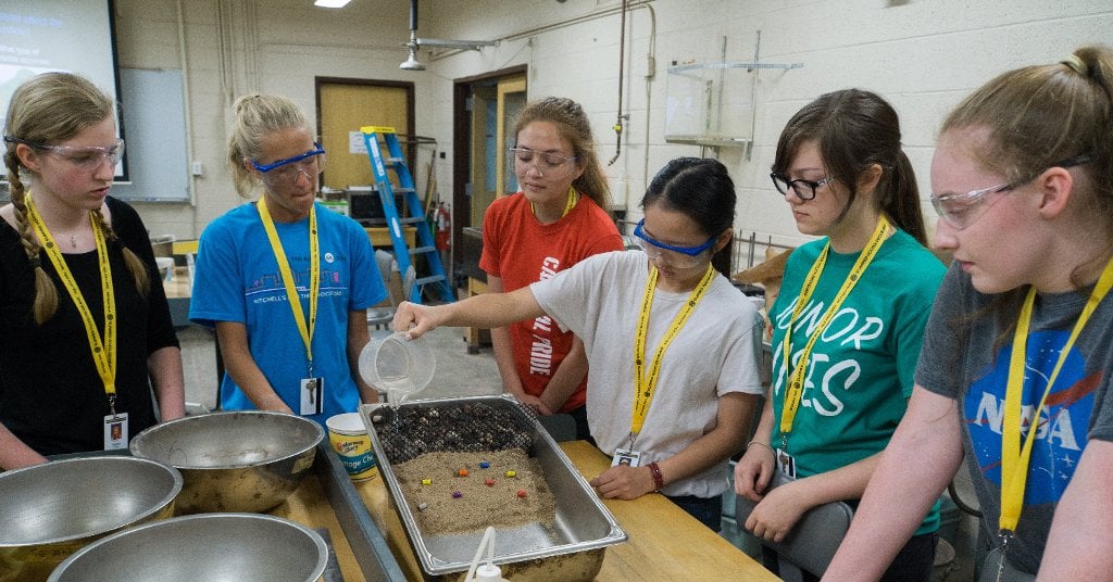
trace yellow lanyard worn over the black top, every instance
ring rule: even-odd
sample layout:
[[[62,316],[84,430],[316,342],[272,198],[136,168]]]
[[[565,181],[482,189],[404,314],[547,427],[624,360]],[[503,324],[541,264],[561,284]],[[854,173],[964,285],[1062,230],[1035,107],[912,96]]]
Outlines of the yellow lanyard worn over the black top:
[[[100,296],[105,304],[105,337],[101,339],[97,331],[97,322],[92,319],[92,312],[89,304],[81,295],[81,289],[77,286],[77,279],[66,265],[66,259],[58,250],[58,244],[47,230],[47,225],[35,208],[35,200],[27,197],[27,218],[31,221],[31,227],[42,239],[42,248],[47,251],[50,263],[58,272],[66,290],[69,292],[77,313],[81,315],[81,323],[85,324],[85,334],[89,341],[89,351],[92,353],[92,363],[97,367],[97,375],[105,385],[105,394],[108,395],[108,405],[116,415],[116,294],[112,290],[112,268],[108,264],[108,246],[105,244],[105,233],[100,230],[100,225],[89,213],[89,224],[92,225],[93,239],[97,241],[97,262],[100,265]]]

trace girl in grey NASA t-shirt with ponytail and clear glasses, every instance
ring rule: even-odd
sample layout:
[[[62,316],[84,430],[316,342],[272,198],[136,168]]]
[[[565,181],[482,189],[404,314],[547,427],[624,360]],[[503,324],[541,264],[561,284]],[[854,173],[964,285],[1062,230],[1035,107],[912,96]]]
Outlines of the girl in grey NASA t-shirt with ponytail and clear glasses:
[[[963,457],[981,580],[1113,572],[1113,50],[1005,72],[944,120],[932,308],[908,412],[830,580],[875,580]]]

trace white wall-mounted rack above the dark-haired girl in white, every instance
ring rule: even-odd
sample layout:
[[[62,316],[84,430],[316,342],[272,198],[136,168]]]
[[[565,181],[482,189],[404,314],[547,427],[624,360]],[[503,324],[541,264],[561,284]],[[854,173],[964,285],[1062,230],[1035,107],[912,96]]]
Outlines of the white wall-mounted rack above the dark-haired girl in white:
[[[757,71],[789,70],[802,62],[719,61],[668,69],[664,140],[701,147],[754,146]]]

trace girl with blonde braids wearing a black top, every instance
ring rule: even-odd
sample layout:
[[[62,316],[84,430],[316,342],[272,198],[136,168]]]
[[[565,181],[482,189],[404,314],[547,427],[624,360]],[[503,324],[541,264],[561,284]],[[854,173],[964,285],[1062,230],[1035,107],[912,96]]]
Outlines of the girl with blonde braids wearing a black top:
[[[12,95],[0,207],[0,468],[122,448],[185,412],[181,357],[147,229],[111,198],[115,102],[49,72]],[[105,276],[107,275],[107,276]],[[106,423],[114,424],[119,438]]]

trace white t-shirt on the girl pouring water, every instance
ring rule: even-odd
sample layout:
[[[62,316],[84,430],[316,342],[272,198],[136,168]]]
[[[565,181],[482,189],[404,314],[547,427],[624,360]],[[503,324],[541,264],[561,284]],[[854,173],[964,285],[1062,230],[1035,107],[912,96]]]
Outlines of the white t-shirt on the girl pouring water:
[[[589,257],[530,286],[541,308],[583,341],[588,354],[588,423],[607,454],[630,447],[634,396],[633,341],[649,262],[638,250]],[[689,293],[657,289],[646,339],[647,369],[661,336]],[[661,361],[660,378],[633,448],[640,463],[668,458],[716,426],[718,396],[762,394],[761,316],[721,275],[692,312]],[[668,495],[711,497],[729,486],[725,460]]]

